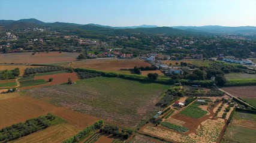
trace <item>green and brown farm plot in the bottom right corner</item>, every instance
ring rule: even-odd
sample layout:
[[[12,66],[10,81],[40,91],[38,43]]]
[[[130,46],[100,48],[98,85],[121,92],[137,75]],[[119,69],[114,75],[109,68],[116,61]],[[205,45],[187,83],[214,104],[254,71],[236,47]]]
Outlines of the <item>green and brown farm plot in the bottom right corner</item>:
[[[256,115],[236,111],[222,142],[255,142]]]

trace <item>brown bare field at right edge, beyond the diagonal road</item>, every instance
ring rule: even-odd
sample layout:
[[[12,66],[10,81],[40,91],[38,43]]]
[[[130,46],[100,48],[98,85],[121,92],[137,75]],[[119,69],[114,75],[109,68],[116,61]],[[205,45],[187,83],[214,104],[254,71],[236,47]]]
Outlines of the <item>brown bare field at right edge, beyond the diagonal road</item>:
[[[221,89],[236,97],[256,98],[256,86],[234,86]]]

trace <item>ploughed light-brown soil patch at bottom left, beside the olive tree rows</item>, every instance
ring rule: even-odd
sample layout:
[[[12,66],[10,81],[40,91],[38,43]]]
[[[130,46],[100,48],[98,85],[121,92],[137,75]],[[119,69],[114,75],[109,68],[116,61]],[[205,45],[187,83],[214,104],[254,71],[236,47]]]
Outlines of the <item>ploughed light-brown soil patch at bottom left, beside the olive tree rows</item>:
[[[55,126],[50,126],[47,129],[39,132],[32,133],[31,135],[24,136],[13,142],[31,143],[31,142],[46,142],[46,143],[59,143],[79,132],[75,126],[68,123],[61,123]]]

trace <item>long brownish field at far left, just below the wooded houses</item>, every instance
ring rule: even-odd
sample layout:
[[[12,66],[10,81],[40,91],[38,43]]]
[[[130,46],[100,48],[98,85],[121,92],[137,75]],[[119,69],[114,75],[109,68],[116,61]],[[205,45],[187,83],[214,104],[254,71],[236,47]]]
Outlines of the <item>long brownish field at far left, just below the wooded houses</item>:
[[[79,53],[74,52],[49,52],[32,55],[32,52],[0,54],[1,63],[14,64],[46,64],[65,61],[76,61]]]

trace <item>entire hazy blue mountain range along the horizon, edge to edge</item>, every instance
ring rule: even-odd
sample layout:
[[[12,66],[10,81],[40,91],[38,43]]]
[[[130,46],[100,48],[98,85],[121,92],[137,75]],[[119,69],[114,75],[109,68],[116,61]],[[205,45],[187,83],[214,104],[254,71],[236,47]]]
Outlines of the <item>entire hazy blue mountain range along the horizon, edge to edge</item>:
[[[113,27],[103,26],[100,24],[76,24],[76,23],[44,23],[35,18],[21,19],[21,20],[0,20],[0,30],[14,30],[23,29],[26,27],[52,27],[59,30],[70,30],[76,33],[79,30],[86,30],[97,32],[104,35],[122,35],[127,33],[152,33],[152,34],[169,34],[169,35],[206,35],[210,33],[231,33],[256,35],[256,27],[254,26],[172,26],[172,27],[158,27],[155,25],[141,25],[141,26],[124,26]],[[76,31],[76,32],[75,32]]]

